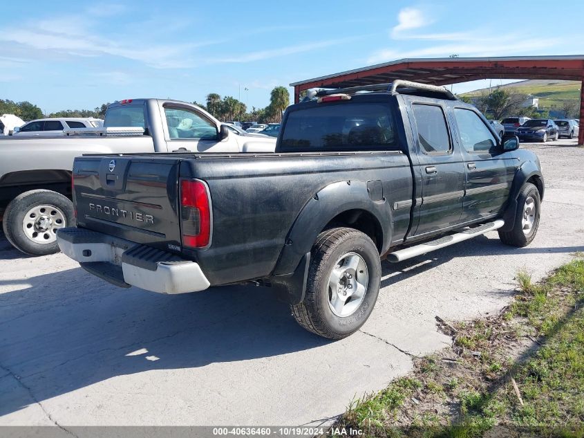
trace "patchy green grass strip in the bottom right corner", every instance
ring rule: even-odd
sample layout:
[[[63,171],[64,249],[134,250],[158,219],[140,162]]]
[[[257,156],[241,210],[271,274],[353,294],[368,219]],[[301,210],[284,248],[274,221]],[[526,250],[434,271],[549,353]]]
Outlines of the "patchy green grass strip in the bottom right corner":
[[[416,361],[410,376],[351,403],[339,424],[372,437],[479,437],[501,425],[584,437],[584,259],[575,256],[539,284],[518,273],[503,316],[455,326],[458,359]],[[523,331],[537,348],[510,358]]]

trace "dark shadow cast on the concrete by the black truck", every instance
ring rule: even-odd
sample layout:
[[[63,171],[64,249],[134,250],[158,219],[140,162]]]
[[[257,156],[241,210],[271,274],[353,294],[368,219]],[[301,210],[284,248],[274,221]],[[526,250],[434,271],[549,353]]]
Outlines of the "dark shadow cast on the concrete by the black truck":
[[[406,280],[453,257],[514,253],[571,253],[568,248],[511,248],[477,237],[399,264],[384,262],[382,287]],[[0,259],[23,257],[0,248]],[[34,263],[34,261],[33,261]],[[6,276],[5,276],[6,277]],[[6,287],[8,286],[8,287]],[[160,295],[118,289],[81,268],[0,280],[0,364],[43,401],[114,376],[150,369],[205,367],[299,352],[330,341],[301,329],[287,304],[268,288],[225,286],[200,293]],[[0,370],[1,371],[1,370]],[[7,374],[7,372],[3,374]],[[12,379],[0,378],[0,383]],[[30,397],[0,384],[0,415]]]

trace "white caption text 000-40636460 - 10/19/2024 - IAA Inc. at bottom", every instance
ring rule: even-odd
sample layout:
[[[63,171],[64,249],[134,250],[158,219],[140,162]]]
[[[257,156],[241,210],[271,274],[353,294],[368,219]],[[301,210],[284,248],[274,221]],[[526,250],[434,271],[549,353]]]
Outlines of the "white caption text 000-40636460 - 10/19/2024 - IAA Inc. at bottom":
[[[213,428],[214,437],[227,436],[256,436],[256,437],[314,437],[329,435],[335,437],[360,437],[363,431],[353,428],[310,428],[310,427],[223,427]]]

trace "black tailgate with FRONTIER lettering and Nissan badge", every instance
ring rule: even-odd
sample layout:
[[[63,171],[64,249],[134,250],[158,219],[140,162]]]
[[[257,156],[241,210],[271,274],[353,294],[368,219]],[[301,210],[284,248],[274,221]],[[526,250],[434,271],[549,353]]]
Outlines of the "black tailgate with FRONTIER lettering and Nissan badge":
[[[180,250],[180,159],[75,158],[77,225],[163,250]]]

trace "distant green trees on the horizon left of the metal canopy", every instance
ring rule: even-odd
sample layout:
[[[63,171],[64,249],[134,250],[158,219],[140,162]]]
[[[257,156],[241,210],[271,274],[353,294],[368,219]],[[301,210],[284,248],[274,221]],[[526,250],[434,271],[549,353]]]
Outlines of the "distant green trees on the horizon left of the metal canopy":
[[[252,107],[248,111],[246,105],[232,96],[221,98],[217,93],[209,93],[205,103],[193,102],[202,109],[206,109],[214,117],[222,121],[255,121],[255,122],[281,122],[282,113],[290,104],[290,93],[285,86],[276,86],[270,93],[270,104],[265,108]],[[95,109],[64,109],[54,113],[43,114],[37,105],[27,101],[13,102],[0,99],[0,115],[14,114],[22,120],[30,121],[43,117],[93,117],[104,118],[108,103]]]

